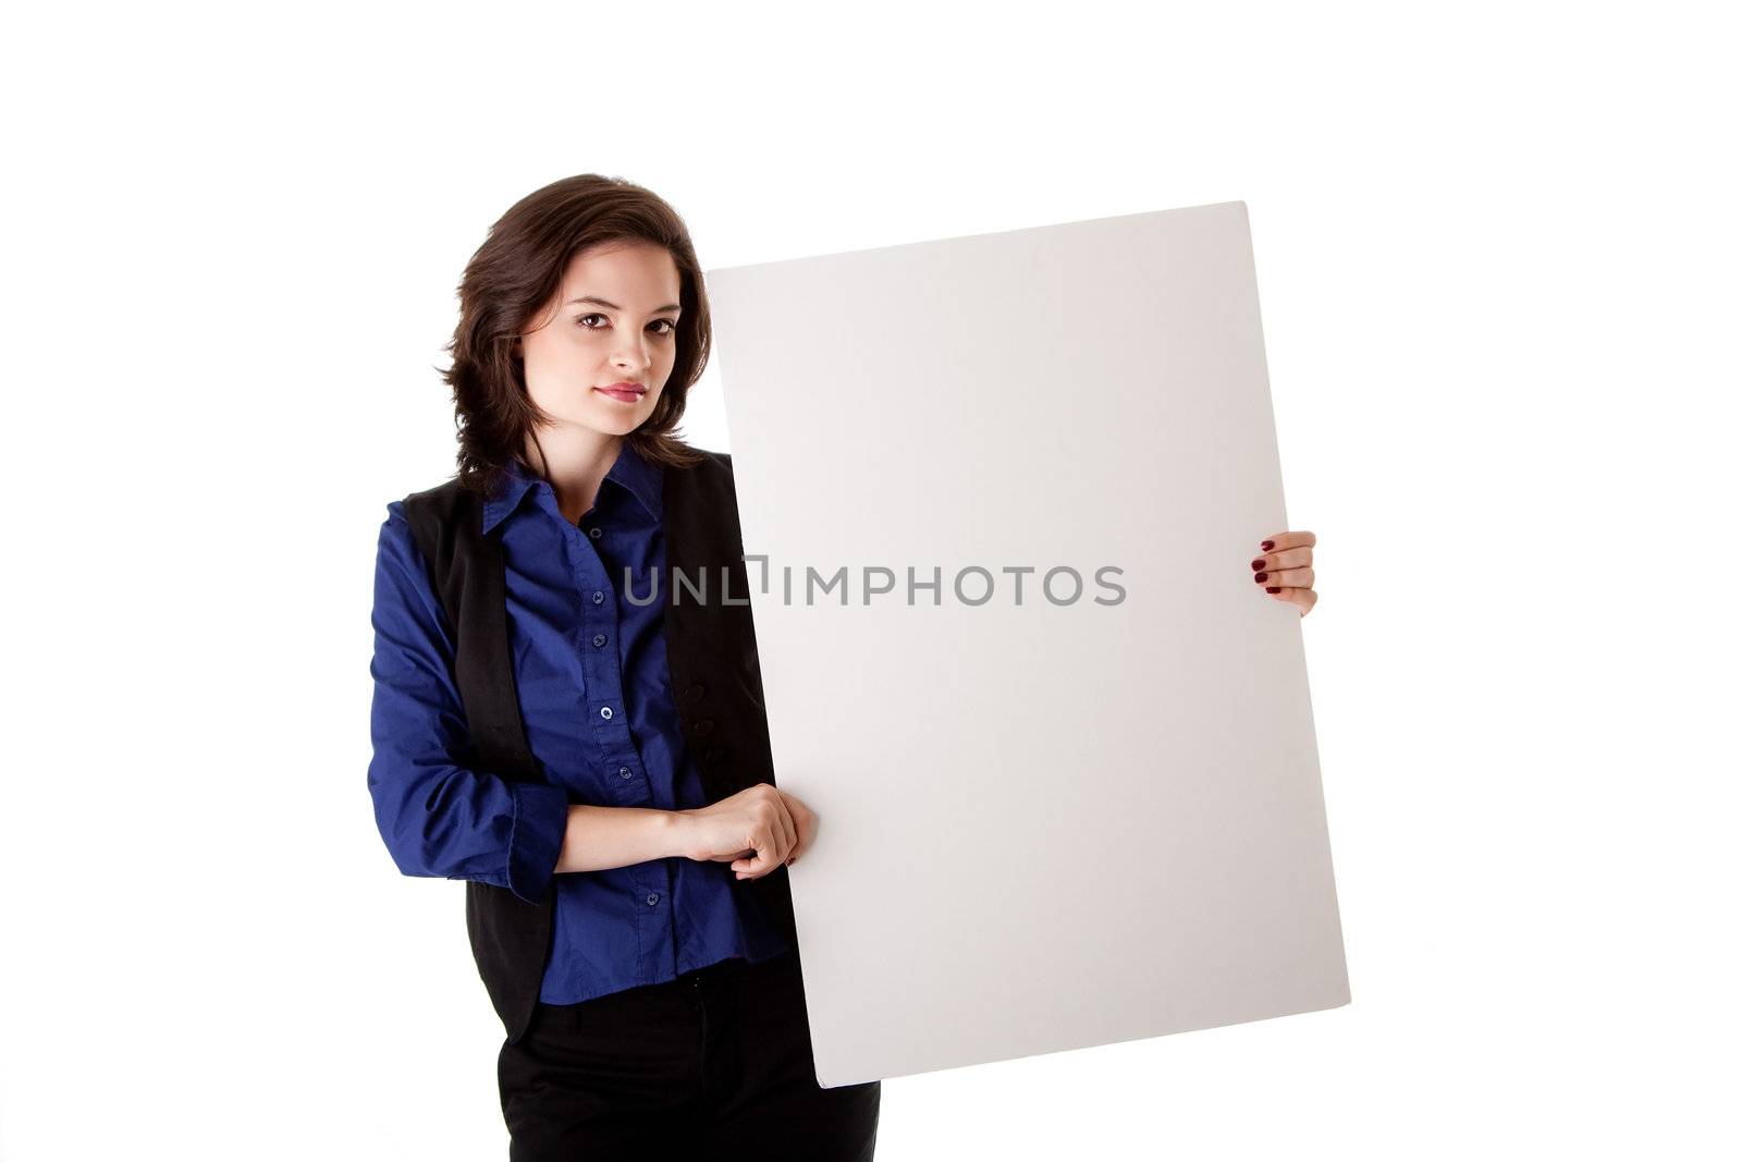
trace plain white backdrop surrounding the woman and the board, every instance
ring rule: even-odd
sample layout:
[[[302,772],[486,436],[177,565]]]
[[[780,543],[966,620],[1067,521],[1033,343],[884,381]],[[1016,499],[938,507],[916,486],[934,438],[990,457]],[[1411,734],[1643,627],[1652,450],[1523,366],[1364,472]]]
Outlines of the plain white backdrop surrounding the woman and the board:
[[[1352,1005],[895,1078],[878,1159],[1735,1157],[1716,7],[45,10],[0,49],[7,1162],[503,1157],[462,892],[375,833],[368,615],[453,467],[460,270],[585,171],[706,267],[1251,211]]]

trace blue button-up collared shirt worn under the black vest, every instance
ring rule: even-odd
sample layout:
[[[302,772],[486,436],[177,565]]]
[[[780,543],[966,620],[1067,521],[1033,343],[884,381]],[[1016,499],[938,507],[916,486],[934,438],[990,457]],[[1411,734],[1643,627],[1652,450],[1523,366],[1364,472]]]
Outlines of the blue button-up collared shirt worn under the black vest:
[[[402,502],[387,505],[375,568],[369,794],[406,875],[483,880],[537,901],[556,871],[570,803],[706,805],[665,667],[662,472],[625,443],[580,524],[519,462],[484,503],[502,537],[509,650],[526,746],[547,784],[456,765],[469,739],[453,631]],[[500,528],[498,528],[500,526]],[[625,582],[629,591],[625,592]],[[634,598],[634,599],[631,599]],[[540,1000],[575,1003],[787,942],[725,861],[653,859],[556,876]]]

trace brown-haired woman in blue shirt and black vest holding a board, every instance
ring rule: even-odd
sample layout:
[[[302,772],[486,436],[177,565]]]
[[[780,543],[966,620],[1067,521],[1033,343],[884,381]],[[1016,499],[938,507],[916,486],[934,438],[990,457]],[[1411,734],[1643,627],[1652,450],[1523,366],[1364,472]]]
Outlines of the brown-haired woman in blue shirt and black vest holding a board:
[[[369,791],[401,871],[467,880],[517,1160],[876,1145],[881,1084],[815,1080],[786,875],[815,817],[772,784],[749,610],[660,582],[749,592],[730,458],[674,436],[707,350],[664,200],[528,195],[460,284],[460,470],[381,526]],[[1303,615],[1312,545],[1252,559]]]

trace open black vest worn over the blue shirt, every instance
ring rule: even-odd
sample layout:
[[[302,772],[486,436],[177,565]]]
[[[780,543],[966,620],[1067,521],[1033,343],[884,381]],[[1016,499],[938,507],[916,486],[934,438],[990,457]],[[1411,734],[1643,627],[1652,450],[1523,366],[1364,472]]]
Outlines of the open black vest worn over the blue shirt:
[[[664,470],[667,573],[660,587],[665,592],[665,657],[683,739],[707,801],[718,803],[758,782],[775,782],[775,777],[751,608],[728,605],[747,603],[751,592],[732,456],[712,451],[706,456],[699,465]],[[490,537],[483,531],[483,498],[455,477],[406,497],[404,512],[453,632],[455,685],[472,735],[470,765],[510,780],[549,782],[526,747],[509,657],[502,542],[496,530]],[[676,573],[686,584],[674,587]],[[695,592],[704,578],[706,601]],[[733,890],[747,895],[747,904],[760,906],[796,948],[784,866],[756,880],[733,880]],[[554,902],[554,882],[538,904],[493,883],[469,880],[465,885],[472,956],[509,1042],[526,1031],[538,1002]]]

